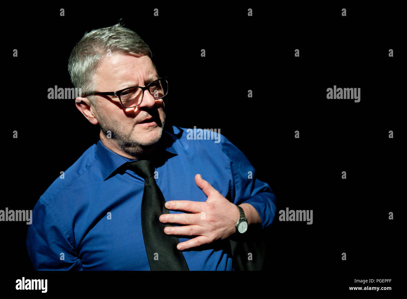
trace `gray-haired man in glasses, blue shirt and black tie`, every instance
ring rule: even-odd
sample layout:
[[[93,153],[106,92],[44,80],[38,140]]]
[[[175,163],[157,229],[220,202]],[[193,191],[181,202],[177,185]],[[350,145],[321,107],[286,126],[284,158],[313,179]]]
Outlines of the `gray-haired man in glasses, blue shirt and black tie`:
[[[151,57],[120,24],[72,50],[76,106],[99,124],[100,141],[33,209],[36,270],[233,270],[228,238],[271,225],[276,198],[236,146],[219,132],[204,131],[214,142],[163,131],[170,79]]]

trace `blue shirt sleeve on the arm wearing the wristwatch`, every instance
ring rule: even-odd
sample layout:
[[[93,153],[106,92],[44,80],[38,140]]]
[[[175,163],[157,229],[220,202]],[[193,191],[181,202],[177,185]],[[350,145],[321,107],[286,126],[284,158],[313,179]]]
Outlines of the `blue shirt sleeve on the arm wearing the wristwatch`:
[[[273,190],[256,178],[256,171],[243,152],[224,136],[222,139],[222,151],[229,159],[233,177],[232,202],[235,205],[251,204],[260,216],[262,229],[269,228],[277,210]]]

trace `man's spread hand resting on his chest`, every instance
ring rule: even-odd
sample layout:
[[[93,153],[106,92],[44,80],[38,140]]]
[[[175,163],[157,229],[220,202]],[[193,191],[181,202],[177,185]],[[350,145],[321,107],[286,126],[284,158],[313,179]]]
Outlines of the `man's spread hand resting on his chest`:
[[[239,209],[225,199],[210,183],[195,175],[195,183],[208,199],[201,201],[167,201],[168,210],[188,211],[195,214],[162,214],[162,223],[186,224],[182,227],[165,227],[168,235],[197,236],[186,242],[179,243],[177,249],[188,249],[203,244],[225,239],[236,232],[236,222],[239,220]]]

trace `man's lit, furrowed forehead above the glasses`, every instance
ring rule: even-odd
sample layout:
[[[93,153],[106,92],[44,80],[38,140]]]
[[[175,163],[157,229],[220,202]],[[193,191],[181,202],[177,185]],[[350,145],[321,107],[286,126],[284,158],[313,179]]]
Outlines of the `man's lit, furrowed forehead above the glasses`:
[[[153,76],[157,76],[150,57],[112,53],[102,59],[96,70],[98,87],[111,89],[129,85],[144,85]]]

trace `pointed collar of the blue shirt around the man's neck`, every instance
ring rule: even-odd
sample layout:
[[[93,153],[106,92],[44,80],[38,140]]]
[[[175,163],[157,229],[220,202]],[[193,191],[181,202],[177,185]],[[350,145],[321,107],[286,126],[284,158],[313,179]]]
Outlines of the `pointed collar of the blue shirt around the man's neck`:
[[[175,150],[173,143],[176,140],[176,136],[172,133],[167,131],[162,132],[162,147],[165,147],[165,151],[167,153],[167,159],[177,155],[177,151]],[[127,162],[136,161],[136,159],[129,159],[115,152],[109,150],[103,143],[98,140],[96,144],[96,159],[98,160],[99,168],[101,170],[103,181],[105,181],[112,173],[123,166]]]

